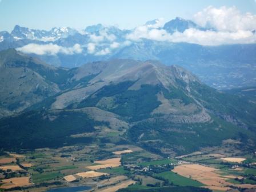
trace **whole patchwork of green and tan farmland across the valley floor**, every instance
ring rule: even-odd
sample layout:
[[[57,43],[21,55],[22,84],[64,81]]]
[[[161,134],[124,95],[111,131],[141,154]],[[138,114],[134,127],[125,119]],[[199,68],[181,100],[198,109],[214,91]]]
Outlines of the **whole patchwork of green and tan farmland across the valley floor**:
[[[230,159],[233,161],[227,161]],[[0,157],[0,162],[0,169],[5,173],[0,173],[2,190],[26,187],[29,191],[47,191],[58,187],[90,186],[95,191],[168,187],[177,187],[177,191],[225,191],[230,186],[256,186],[253,164],[256,161],[250,155],[230,157],[229,154],[197,151],[178,158],[163,158],[137,146],[105,143],[8,153]],[[7,170],[11,172],[6,174]],[[22,184],[18,178],[24,179]]]

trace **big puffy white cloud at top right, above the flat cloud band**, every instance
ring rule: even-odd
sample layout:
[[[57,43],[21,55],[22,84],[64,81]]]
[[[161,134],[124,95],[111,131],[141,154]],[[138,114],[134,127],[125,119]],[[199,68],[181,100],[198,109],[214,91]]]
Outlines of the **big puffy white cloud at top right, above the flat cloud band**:
[[[239,30],[255,30],[256,15],[241,14],[235,7],[209,6],[194,15],[194,21],[203,27],[213,27],[218,31],[237,32]]]

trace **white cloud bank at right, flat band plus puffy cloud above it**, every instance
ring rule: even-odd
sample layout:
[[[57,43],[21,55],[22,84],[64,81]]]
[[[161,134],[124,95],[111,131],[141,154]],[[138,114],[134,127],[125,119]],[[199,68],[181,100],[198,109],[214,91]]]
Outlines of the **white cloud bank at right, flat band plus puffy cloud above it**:
[[[163,29],[152,29],[143,25],[126,35],[130,41],[140,41],[142,38],[154,41],[187,42],[199,45],[226,45],[237,43],[256,43],[256,15],[241,14],[235,7],[209,6],[194,15],[194,21],[211,30],[187,29],[183,33],[167,33]],[[214,29],[214,30],[212,30]]]

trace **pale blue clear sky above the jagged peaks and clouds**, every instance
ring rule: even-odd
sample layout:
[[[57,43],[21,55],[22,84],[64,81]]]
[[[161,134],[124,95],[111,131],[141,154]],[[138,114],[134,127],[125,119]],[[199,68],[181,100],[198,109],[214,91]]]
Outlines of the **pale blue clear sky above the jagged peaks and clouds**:
[[[256,14],[255,0],[0,0],[0,31],[11,31],[15,25],[83,29],[96,23],[131,29],[155,18],[189,19],[210,5],[235,6],[242,13]]]

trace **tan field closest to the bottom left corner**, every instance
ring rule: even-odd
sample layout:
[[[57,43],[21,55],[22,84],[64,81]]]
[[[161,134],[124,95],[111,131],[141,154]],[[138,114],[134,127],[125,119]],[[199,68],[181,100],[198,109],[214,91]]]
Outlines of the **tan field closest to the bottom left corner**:
[[[3,179],[2,182],[4,183],[1,186],[1,189],[11,189],[13,187],[23,187],[33,185],[33,183],[29,182],[29,177],[14,177],[11,179]]]

